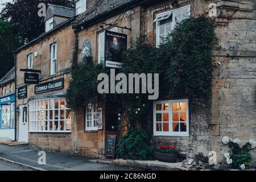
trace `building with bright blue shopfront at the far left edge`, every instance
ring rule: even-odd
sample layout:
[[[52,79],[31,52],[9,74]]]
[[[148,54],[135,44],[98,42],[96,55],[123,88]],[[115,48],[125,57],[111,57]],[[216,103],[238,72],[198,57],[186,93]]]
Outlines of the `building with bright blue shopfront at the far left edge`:
[[[15,140],[15,68],[0,80],[0,140]]]

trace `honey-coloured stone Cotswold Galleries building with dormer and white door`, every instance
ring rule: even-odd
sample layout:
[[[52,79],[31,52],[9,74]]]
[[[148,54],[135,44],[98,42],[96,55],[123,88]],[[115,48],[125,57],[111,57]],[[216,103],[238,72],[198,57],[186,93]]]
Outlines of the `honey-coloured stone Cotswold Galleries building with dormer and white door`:
[[[72,153],[71,110],[65,102],[75,39],[75,10],[49,5],[46,32],[16,52],[16,137],[32,148]],[[39,70],[39,84],[24,84],[20,69]]]

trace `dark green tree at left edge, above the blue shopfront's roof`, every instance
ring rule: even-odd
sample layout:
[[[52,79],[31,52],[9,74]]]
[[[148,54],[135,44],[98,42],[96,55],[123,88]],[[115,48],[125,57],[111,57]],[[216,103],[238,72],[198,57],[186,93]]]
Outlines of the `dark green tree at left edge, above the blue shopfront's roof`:
[[[16,28],[0,19],[0,79],[14,67],[14,54],[16,48],[21,46],[16,36]]]

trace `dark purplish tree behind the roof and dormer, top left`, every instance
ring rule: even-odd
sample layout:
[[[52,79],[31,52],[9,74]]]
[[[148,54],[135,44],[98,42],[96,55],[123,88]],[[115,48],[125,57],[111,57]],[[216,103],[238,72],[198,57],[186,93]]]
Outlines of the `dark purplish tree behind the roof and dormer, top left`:
[[[73,7],[73,0],[13,0],[6,3],[0,18],[8,20],[18,28],[18,36],[24,43],[30,42],[44,32],[44,17],[38,15],[39,3]]]

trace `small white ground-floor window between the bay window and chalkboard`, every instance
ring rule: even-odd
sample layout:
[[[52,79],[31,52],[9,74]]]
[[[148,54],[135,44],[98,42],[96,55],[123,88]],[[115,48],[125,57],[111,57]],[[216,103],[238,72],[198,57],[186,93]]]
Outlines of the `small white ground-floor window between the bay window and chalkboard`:
[[[89,104],[85,112],[85,130],[102,129],[102,108]]]

